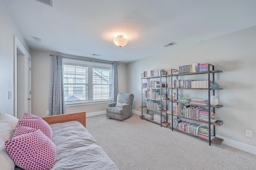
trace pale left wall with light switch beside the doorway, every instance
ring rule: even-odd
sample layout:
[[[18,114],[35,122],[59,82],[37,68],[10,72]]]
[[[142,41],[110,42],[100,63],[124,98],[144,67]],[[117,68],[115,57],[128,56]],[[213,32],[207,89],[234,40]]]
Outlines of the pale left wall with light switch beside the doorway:
[[[14,35],[26,51],[30,49],[0,1],[0,112],[14,115]],[[8,91],[12,99],[8,99]]]

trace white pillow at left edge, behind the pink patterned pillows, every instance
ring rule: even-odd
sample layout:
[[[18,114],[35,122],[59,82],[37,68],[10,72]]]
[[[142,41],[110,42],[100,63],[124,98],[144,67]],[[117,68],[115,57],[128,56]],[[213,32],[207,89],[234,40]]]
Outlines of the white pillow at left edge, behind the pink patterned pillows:
[[[14,161],[4,147],[5,141],[12,138],[18,119],[7,113],[0,113],[0,165],[3,170],[14,170]]]

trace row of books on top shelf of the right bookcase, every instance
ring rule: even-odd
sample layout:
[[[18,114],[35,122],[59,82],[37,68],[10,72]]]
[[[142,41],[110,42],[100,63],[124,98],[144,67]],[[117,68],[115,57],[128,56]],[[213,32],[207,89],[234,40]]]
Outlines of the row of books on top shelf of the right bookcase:
[[[186,66],[179,66],[179,73],[185,74],[185,73],[192,73],[192,72],[201,72],[201,71],[207,71],[208,70],[208,64],[209,63],[193,63]]]

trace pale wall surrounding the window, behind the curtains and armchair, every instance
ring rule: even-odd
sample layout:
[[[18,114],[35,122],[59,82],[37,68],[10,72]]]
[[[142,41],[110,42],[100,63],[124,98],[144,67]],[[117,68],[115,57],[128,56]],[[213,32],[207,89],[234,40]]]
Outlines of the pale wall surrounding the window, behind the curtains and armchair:
[[[31,50],[32,56],[32,113],[40,117],[47,116],[46,111],[50,110],[50,88],[52,81],[52,62],[50,55],[54,52]],[[80,58],[70,55],[64,57]],[[86,59],[86,58],[82,58]],[[95,60],[94,60],[95,61]],[[118,64],[118,86],[119,92],[126,92],[126,64]],[[86,104],[80,106],[66,105],[66,113],[86,111],[86,115],[106,113],[108,102],[100,104]]]

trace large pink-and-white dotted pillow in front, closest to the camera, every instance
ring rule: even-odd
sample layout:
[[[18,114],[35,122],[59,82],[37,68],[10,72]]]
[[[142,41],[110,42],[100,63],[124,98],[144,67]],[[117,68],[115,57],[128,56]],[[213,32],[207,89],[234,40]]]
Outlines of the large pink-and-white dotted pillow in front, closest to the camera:
[[[40,130],[9,139],[5,148],[15,164],[25,170],[49,170],[54,165],[56,145]]]

